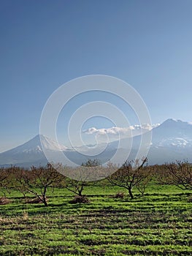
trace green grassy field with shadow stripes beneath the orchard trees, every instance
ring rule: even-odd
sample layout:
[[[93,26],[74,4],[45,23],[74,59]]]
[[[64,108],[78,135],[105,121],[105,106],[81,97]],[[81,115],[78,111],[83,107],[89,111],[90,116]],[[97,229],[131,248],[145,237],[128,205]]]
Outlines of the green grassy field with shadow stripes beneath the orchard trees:
[[[70,204],[66,189],[49,206],[28,204],[18,192],[0,206],[0,255],[192,255],[188,192],[153,185],[144,197],[112,198],[117,187],[85,187],[88,204]]]

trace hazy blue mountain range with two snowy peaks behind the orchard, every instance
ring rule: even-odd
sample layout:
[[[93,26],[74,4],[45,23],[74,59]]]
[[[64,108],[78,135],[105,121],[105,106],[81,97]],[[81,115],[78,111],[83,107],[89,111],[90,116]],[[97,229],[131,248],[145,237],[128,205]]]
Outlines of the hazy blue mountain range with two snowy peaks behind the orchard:
[[[133,138],[129,159],[134,159],[136,157],[140,139],[141,136],[135,136]],[[108,159],[111,159],[113,154],[115,154],[119,145],[118,143],[118,141],[109,143],[102,153],[94,155],[94,147],[79,147],[77,151],[75,148],[66,148],[65,146],[59,145],[54,140],[51,140],[44,135],[37,135],[23,145],[1,153],[0,165],[18,165],[23,167],[46,165],[47,159],[42,150],[42,146],[46,148],[53,157],[55,157],[58,152],[64,152],[66,157],[77,165],[85,162],[88,158],[97,158],[100,159],[101,162],[106,162]],[[128,145],[130,145],[130,138],[121,140],[120,145],[120,152],[126,154]],[[100,144],[99,146],[102,148],[103,145]],[[89,151],[91,151],[93,157],[88,156]],[[152,143],[147,154],[149,164],[174,162],[176,159],[188,159],[188,161],[191,162],[191,153],[192,124],[185,121],[167,119],[164,123],[152,129]],[[116,159],[116,162],[118,162],[118,159]]]

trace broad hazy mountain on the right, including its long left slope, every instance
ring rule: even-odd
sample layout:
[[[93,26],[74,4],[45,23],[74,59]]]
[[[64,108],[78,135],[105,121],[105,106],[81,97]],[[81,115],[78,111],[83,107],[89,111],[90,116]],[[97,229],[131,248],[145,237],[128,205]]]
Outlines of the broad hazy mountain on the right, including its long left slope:
[[[150,132],[152,133],[152,140],[147,154],[149,165],[175,162],[176,160],[192,162],[192,124],[169,118]],[[147,132],[142,136],[144,141],[147,141]],[[118,143],[118,141],[109,143],[107,146],[108,155],[115,152]],[[132,145],[130,138],[121,140],[120,154],[122,154],[122,159],[123,156],[126,156],[130,145],[131,151],[128,159],[136,159],[140,143],[140,135],[132,138]],[[149,145],[145,146],[148,147]],[[142,157],[146,156],[143,155]]]

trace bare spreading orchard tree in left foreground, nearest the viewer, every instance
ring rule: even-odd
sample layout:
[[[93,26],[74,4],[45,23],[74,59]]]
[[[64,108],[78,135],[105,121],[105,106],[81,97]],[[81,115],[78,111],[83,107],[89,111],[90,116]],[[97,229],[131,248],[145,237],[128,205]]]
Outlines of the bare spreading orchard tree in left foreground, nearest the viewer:
[[[15,174],[16,189],[35,195],[45,206],[47,205],[47,189],[59,186],[64,181],[64,176],[58,173],[49,163],[46,167],[31,167],[31,170],[20,170]]]

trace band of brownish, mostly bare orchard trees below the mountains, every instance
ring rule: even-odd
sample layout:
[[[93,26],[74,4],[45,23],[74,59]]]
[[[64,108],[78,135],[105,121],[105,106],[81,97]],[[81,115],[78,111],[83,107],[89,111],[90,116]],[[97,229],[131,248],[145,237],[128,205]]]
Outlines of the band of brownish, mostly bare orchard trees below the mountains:
[[[50,163],[45,167],[32,166],[30,170],[15,166],[1,167],[0,192],[4,197],[11,189],[21,192],[23,197],[30,193],[47,206],[47,190],[55,187],[65,188],[77,195],[73,201],[74,203],[85,203],[88,200],[83,195],[83,189],[91,182],[88,181],[88,176],[83,175],[83,170],[86,167],[92,167],[92,173],[99,170],[103,177],[104,173],[110,173],[103,180],[105,186],[111,184],[127,189],[131,199],[134,198],[134,187],[137,188],[142,196],[145,195],[145,190],[150,181],[156,184],[172,184],[180,189],[192,189],[192,164],[189,162],[177,161],[164,165],[147,165],[147,159],[144,159],[141,165],[137,161],[134,163],[126,161],[117,170],[117,166],[112,163],[107,167],[102,167],[98,160],[88,159],[87,162],[82,164],[78,180],[61,174]],[[64,170],[64,173],[73,171],[71,167],[63,167],[62,170]],[[116,171],[114,172],[114,170]],[[93,186],[97,182],[101,181],[92,181],[91,185]],[[119,194],[118,196],[120,197],[121,195]]]

